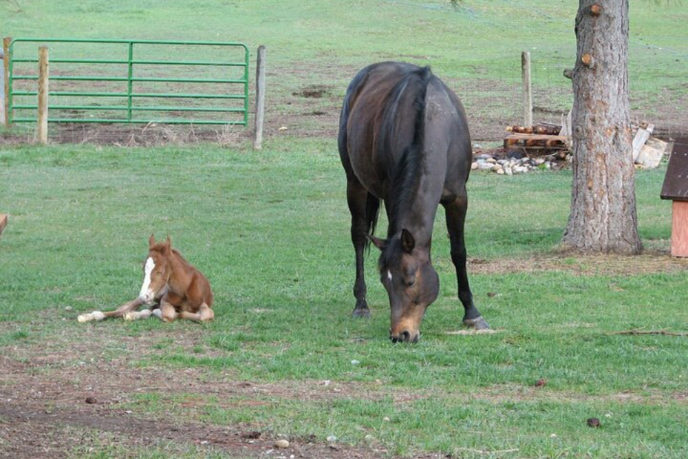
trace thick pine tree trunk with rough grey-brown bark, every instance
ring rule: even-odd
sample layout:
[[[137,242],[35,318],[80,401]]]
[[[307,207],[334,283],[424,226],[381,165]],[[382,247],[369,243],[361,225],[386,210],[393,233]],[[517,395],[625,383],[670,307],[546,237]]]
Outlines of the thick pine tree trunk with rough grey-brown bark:
[[[576,38],[573,186],[562,243],[583,253],[637,254],[628,0],[580,0]]]

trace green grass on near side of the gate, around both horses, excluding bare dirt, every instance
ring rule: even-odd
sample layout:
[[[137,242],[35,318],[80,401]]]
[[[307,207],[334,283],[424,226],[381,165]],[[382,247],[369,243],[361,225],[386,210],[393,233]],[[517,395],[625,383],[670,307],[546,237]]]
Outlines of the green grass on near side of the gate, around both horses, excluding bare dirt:
[[[208,381],[230,372],[233,381],[286,391],[223,396],[231,407],[211,398],[198,412],[181,403],[194,397],[193,389],[144,392],[129,405],[138,414],[172,410],[182,420],[254,423],[292,438],[336,436],[401,456],[685,456],[688,341],[613,334],[685,332],[685,271],[473,274],[477,306],[498,331],[448,334],[460,329],[462,311],[440,209],[433,244],[440,297],[420,343],[393,345],[375,253],[367,259],[373,317],[350,319],[353,253],[334,140],[270,140],[261,153],[213,145],[5,147],[0,164],[0,202],[10,214],[0,237],[3,348],[65,346],[97,330],[107,338],[98,359],[124,353],[133,367],[197,368]],[[566,171],[474,173],[469,257],[520,259],[555,249],[566,226],[570,178]],[[638,214],[645,244],[667,250],[670,204],[658,199],[661,180],[663,168],[638,171]],[[151,233],[171,235],[213,284],[216,319],[193,346],[174,339],[198,332],[192,323],[76,323],[80,312],[136,295]],[[568,256],[566,263],[585,260]],[[127,354],[118,343],[161,330],[151,353]],[[539,379],[546,386],[535,389]],[[317,392],[326,380],[347,392],[290,395],[299,387]],[[587,427],[589,417],[603,427]],[[519,451],[476,452],[512,449]],[[101,455],[74,450],[73,457],[118,457],[116,447],[96,451]],[[133,457],[158,453],[140,449]]]

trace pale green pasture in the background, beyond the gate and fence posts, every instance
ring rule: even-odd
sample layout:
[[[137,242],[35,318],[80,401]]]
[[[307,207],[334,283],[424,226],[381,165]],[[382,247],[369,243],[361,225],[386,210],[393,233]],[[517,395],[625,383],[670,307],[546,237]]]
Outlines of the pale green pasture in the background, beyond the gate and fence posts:
[[[479,140],[498,140],[504,126],[521,119],[524,50],[533,61],[535,120],[560,122],[572,103],[562,72],[575,61],[574,1],[471,0],[457,11],[445,0],[17,3],[21,10],[0,3],[4,36],[242,41],[252,60],[258,45],[266,45],[269,131],[285,126],[308,136],[332,134],[323,124],[336,126],[350,78],[384,60],[431,65],[464,101]],[[633,116],[665,134],[688,134],[688,44],[676,33],[688,8],[651,0],[630,8]],[[35,56],[34,46],[24,52]],[[104,56],[109,52],[103,47]],[[303,96],[314,89],[322,96]]]

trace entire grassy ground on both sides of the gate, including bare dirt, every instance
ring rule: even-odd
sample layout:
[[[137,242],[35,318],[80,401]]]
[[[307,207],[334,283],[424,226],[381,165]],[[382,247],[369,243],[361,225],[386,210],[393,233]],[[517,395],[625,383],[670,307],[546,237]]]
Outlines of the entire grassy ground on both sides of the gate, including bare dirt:
[[[636,174],[640,257],[557,250],[569,171],[474,173],[469,275],[495,332],[463,333],[441,209],[441,291],[420,343],[387,338],[374,252],[372,319],[350,318],[334,132],[359,67],[429,63],[464,100],[480,142],[519,119],[524,49],[536,119],[558,120],[570,105],[561,72],[574,60],[575,2],[447,3],[0,2],[3,35],[245,41],[268,47],[270,69],[260,152],[236,138],[149,148],[0,140],[0,213],[10,214],[0,236],[0,456],[687,456],[688,262],[668,255],[665,166]],[[634,117],[685,130],[688,42],[676,30],[687,8],[634,1],[631,19]],[[321,97],[304,96],[314,89]],[[137,294],[151,233],[170,235],[211,280],[215,321],[77,323]],[[627,334],[638,330],[647,333]],[[281,437],[292,445],[277,451]]]

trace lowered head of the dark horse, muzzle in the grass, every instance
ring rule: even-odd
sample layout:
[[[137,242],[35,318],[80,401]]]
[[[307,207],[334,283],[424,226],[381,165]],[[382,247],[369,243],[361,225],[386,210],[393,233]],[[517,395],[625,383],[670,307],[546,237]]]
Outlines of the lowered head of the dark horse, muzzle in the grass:
[[[391,308],[389,339],[416,343],[425,310],[440,291],[440,279],[430,263],[429,248],[416,247],[407,230],[391,239],[369,239],[380,249],[380,281]]]

